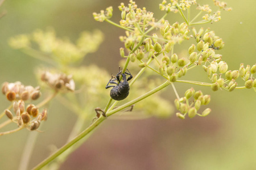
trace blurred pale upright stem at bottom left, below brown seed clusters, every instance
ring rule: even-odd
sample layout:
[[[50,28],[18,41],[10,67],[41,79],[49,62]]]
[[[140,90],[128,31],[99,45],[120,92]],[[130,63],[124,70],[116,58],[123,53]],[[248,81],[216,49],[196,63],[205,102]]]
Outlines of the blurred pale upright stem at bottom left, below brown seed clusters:
[[[42,126],[42,125],[40,125]],[[19,170],[28,169],[28,163],[32,155],[32,151],[35,147],[36,138],[38,137],[38,131],[30,131],[28,135],[27,142],[23,148],[23,153],[19,163]]]

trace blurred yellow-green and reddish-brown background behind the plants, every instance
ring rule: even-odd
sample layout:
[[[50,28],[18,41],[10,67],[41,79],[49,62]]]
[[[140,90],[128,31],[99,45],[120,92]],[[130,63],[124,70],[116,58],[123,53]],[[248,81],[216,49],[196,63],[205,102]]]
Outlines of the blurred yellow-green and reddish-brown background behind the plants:
[[[71,40],[76,40],[84,30],[100,29],[105,34],[105,41],[98,52],[84,59],[83,65],[94,63],[109,73],[115,73],[119,66],[119,48],[122,47],[118,37],[124,31],[106,22],[95,22],[92,12],[113,6],[112,20],[118,23],[121,16],[117,7],[121,2],[128,3],[100,0],[6,1],[0,7],[0,11],[7,11],[7,15],[0,19],[0,82],[20,80],[24,84],[36,86],[36,76],[31,73],[42,63],[11,49],[7,41],[20,33],[31,33],[37,28],[45,30],[48,26],[55,28],[57,36],[69,37]],[[158,10],[161,1],[136,2],[138,7],[146,7],[148,11],[154,12],[155,18],[159,19],[164,14]],[[199,2],[213,6],[210,0]],[[225,2],[233,11],[222,11],[220,22],[202,26],[210,27],[222,37],[225,48],[220,50],[220,54],[229,69],[237,70],[241,62],[245,65],[256,62],[256,2]],[[183,22],[179,14],[171,13],[166,19],[170,23]],[[181,45],[175,49],[176,53],[187,50],[188,46]],[[195,69],[186,78],[207,81],[201,68]],[[177,91],[182,95],[190,87],[188,84],[179,84]],[[212,112],[209,116],[185,120],[175,116],[166,120],[149,118],[135,121],[109,118],[84,145],[69,156],[60,169],[255,169],[255,92],[213,92],[209,88],[193,87],[211,95],[209,107]],[[171,87],[168,87],[165,97],[170,99],[170,104],[173,103],[175,97]],[[0,102],[3,111],[9,102],[3,95]],[[29,168],[47,157],[49,146],[63,146],[76,121],[76,115],[60,107],[56,101],[51,103],[49,111],[51,114],[42,127],[46,132],[39,134]],[[0,137],[0,169],[18,168],[28,133],[22,130]]]

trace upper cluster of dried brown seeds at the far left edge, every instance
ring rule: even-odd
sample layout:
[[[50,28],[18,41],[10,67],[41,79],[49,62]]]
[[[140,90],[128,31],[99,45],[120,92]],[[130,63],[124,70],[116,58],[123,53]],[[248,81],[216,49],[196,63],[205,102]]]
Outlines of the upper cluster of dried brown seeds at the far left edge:
[[[2,85],[2,93],[7,99],[13,100],[36,100],[41,96],[40,87],[24,86],[20,82],[8,83]]]

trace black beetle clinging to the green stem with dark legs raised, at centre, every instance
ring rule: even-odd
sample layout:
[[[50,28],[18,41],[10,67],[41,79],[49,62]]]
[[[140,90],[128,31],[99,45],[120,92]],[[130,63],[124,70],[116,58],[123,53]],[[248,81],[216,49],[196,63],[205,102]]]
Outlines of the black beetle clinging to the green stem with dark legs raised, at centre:
[[[113,87],[112,90],[110,91],[110,97],[114,100],[123,100],[125,99],[128,95],[129,95],[129,90],[130,90],[130,86],[128,81],[133,78],[133,75],[131,75],[130,71],[128,69],[126,69],[128,71],[125,73],[122,73],[122,70],[120,71],[120,67],[119,67],[119,71],[117,73],[116,78],[112,77],[109,80],[108,84],[106,85],[106,89]],[[120,76],[122,75],[122,80],[120,80]],[[129,75],[129,78],[126,79],[126,75]],[[115,82],[115,80],[117,80],[117,82]],[[109,86],[110,84],[116,84],[116,86]]]

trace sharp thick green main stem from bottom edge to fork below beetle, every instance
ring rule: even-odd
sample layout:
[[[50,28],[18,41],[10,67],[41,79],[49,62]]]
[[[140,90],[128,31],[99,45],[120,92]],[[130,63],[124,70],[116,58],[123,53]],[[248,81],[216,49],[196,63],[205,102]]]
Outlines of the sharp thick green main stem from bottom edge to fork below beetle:
[[[47,165],[49,162],[51,162],[53,159],[55,159],[57,156],[59,156],[61,153],[63,153],[65,150],[67,150],[69,147],[73,146],[76,142],[78,142],[82,138],[84,138],[87,134],[90,133],[90,131],[94,130],[104,120],[106,120],[106,117],[104,117],[104,116],[101,116],[100,118],[98,118],[95,122],[93,122],[92,125],[90,125],[84,131],[82,131],[79,135],[77,135],[75,138],[73,138],[70,142],[68,142],[66,145],[61,147],[59,150],[57,150],[51,156],[49,156],[48,158],[43,160],[43,162],[41,162],[38,165],[36,165],[36,167],[34,167],[33,169],[41,169],[41,168],[43,168],[45,165]]]

